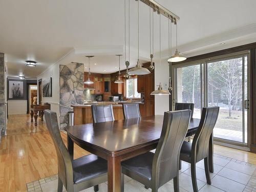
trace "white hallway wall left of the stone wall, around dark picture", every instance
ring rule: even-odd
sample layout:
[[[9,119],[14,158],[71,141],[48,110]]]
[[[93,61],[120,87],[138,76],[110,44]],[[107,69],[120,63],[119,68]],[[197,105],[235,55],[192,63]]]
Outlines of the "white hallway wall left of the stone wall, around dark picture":
[[[37,76],[37,84],[38,80],[49,79],[52,77],[52,97],[42,97],[42,102],[48,102],[51,104],[51,111],[57,113],[57,119],[59,123],[59,64],[55,63],[55,65],[48,68],[46,71],[42,72]],[[38,90],[37,90],[37,95]],[[37,99],[38,101],[38,99]]]

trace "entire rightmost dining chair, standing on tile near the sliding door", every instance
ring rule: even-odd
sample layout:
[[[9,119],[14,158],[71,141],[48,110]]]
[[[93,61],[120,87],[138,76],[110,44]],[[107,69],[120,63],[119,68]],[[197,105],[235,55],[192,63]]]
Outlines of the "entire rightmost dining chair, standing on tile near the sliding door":
[[[204,159],[207,184],[211,184],[208,162],[209,139],[219,115],[219,106],[203,108],[201,121],[193,142],[184,141],[180,151],[180,160],[191,164],[191,178],[194,192],[198,191],[196,163]],[[181,164],[181,163],[180,163]],[[181,166],[180,166],[181,168]]]

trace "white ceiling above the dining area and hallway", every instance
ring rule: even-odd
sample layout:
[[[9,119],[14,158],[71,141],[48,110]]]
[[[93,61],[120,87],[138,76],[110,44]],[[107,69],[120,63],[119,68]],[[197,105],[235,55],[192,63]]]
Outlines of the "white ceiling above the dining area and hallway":
[[[254,0],[157,2],[180,16],[178,45],[186,56],[256,41]],[[135,0],[131,0],[131,8],[131,61],[135,65]],[[140,3],[140,56],[143,60],[149,56],[148,9]],[[161,24],[161,47],[165,50],[162,56],[167,56],[167,19],[162,17]],[[159,16],[155,15],[155,52],[159,50],[158,36]],[[220,45],[221,42],[226,44]],[[114,72],[118,65],[115,54],[123,54],[120,51],[123,46],[123,1],[0,1],[0,52],[6,54],[10,77],[25,75],[35,78],[56,62],[62,65],[70,61],[87,62],[83,56],[89,53],[89,49],[97,55],[93,62],[98,65],[92,66],[92,72]],[[105,54],[109,48],[111,51]],[[29,59],[37,61],[37,67],[27,67],[24,61]],[[121,64],[123,69],[123,60]]]

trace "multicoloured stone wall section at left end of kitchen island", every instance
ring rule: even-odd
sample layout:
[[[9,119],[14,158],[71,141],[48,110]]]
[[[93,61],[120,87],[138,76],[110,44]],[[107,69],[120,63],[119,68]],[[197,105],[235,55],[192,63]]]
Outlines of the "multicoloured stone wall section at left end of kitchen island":
[[[83,64],[60,65],[59,88],[60,129],[63,129],[68,125],[68,112],[73,111],[71,104],[83,104]]]

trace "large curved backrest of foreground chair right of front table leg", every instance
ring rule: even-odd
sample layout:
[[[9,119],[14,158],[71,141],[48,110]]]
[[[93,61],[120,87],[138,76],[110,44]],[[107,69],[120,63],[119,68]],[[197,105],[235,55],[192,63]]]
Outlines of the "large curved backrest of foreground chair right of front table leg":
[[[159,188],[179,174],[180,150],[187,134],[190,113],[190,110],[164,112],[162,132],[153,160],[153,186]]]

